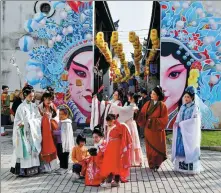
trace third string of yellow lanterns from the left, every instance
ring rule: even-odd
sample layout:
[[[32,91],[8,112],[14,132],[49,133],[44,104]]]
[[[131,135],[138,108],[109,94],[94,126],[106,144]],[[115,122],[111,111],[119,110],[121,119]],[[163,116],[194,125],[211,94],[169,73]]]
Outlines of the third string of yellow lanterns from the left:
[[[140,76],[140,60],[142,59],[142,45],[140,43],[139,36],[134,31],[129,32],[129,41],[134,47],[134,65],[135,65],[135,76]]]

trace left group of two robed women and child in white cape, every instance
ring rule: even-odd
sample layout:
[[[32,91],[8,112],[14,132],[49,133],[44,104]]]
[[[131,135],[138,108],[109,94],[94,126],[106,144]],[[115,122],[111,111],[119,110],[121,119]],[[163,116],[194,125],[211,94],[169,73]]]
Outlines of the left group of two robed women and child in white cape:
[[[19,176],[31,176],[68,169],[69,153],[74,146],[70,110],[65,105],[57,110],[53,104],[51,88],[42,95],[40,105],[33,103],[34,89],[26,85],[22,89],[24,101],[18,106],[13,127],[13,155],[11,172]]]

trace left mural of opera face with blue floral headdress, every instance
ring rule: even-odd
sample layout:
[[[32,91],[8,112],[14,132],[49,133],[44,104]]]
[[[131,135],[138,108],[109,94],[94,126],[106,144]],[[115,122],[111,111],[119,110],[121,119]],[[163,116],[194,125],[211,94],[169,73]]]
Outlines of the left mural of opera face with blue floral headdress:
[[[93,3],[49,3],[57,15],[36,13],[25,22],[28,34],[19,40],[20,49],[30,58],[27,82],[54,88],[56,104],[66,103],[77,124],[87,123],[93,90]]]

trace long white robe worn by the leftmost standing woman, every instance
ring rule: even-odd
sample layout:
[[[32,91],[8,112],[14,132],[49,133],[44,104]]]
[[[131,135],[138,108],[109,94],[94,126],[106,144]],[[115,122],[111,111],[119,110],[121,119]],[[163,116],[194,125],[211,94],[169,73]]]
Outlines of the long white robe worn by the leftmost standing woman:
[[[24,143],[22,142],[21,128],[24,125]],[[26,100],[19,105],[14,119],[13,127],[13,154],[11,166],[20,163],[21,168],[40,166],[39,154],[41,152],[41,115],[34,103],[28,104]],[[23,144],[28,151],[28,158],[24,157]]]

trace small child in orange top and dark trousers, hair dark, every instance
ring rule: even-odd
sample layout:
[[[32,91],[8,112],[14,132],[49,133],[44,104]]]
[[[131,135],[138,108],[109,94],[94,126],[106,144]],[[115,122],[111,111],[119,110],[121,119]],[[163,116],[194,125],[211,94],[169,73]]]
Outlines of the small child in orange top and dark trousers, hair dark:
[[[77,146],[73,147],[72,150],[72,161],[74,162],[73,173],[75,175],[75,178],[83,178],[83,176],[81,176],[81,162],[90,156],[88,153],[88,149],[85,147],[86,137],[82,134],[79,134],[77,136],[76,143]]]

